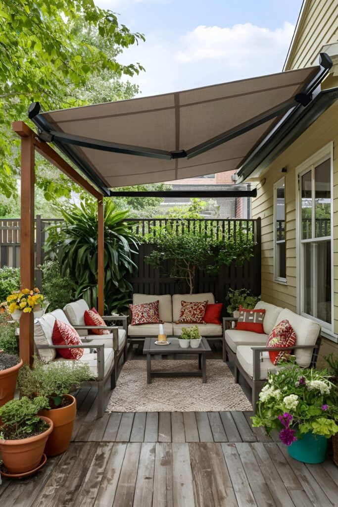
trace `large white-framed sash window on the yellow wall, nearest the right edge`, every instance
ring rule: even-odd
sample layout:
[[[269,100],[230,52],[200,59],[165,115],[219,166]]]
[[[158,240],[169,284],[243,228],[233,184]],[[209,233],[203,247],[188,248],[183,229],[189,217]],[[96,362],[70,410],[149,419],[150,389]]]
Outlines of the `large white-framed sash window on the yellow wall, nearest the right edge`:
[[[326,147],[298,170],[299,310],[332,331],[332,169]]]

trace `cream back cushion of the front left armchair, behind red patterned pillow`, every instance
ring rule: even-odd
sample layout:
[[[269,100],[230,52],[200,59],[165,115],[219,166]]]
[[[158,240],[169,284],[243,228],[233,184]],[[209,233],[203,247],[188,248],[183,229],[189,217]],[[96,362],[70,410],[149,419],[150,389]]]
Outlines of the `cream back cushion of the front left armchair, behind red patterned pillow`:
[[[56,319],[65,324],[69,324],[62,310],[54,310],[51,313],[45,313],[43,317],[34,320],[35,345],[53,345],[52,335]],[[50,361],[56,357],[56,349],[37,349],[37,354],[39,354],[44,363],[50,363]]]

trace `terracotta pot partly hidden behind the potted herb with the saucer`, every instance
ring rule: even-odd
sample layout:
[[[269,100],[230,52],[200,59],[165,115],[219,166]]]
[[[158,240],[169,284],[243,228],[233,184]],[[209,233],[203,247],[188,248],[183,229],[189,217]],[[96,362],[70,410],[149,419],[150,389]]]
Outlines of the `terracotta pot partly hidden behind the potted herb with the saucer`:
[[[72,403],[60,409],[42,410],[41,415],[52,419],[54,428],[46,443],[47,456],[56,456],[64,452],[69,445],[77,415],[77,401],[71,394],[64,394]]]

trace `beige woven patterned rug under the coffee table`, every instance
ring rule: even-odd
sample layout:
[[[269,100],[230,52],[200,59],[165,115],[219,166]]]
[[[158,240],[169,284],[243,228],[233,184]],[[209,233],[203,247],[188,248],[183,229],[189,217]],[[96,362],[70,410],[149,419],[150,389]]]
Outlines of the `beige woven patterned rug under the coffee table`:
[[[152,370],[196,370],[194,360],[152,360]],[[252,410],[229,367],[207,359],[207,383],[201,377],[155,377],[146,383],[146,361],[126,361],[106,412],[222,412]]]

